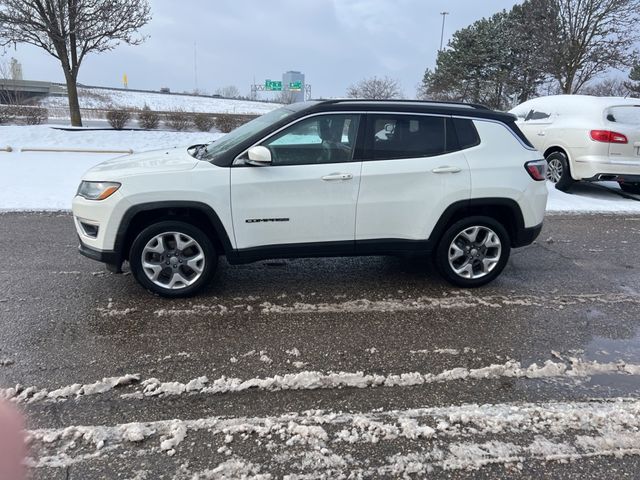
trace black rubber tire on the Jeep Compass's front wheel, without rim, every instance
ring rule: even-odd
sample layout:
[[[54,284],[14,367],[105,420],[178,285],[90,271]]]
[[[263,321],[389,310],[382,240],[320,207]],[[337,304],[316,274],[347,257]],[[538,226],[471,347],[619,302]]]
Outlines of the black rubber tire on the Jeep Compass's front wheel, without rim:
[[[171,237],[175,238],[173,232],[191,237],[191,239],[195,240],[196,242],[195,246],[188,247],[184,251],[178,250],[177,245],[175,243],[171,243]],[[158,282],[163,283],[161,280],[163,280],[164,277],[171,277],[174,271],[178,271],[181,275],[184,275],[185,280],[190,280],[186,277],[194,275],[192,277],[192,284],[187,285],[186,283],[183,283],[182,286],[177,286],[175,288],[168,288],[167,284],[167,287],[163,287],[161,285],[158,285],[157,283],[154,283],[152,279],[147,276],[147,273],[145,273],[145,269],[142,266],[143,251],[149,242],[151,242],[158,235],[162,234],[167,235],[166,238],[168,238],[168,240],[163,241],[166,242],[166,248],[171,249],[170,252],[173,253],[163,254],[164,258],[160,262],[163,268],[162,277],[158,278]],[[186,239],[186,237],[180,238]],[[186,255],[191,255],[193,252],[193,256],[191,258],[195,258],[195,255],[197,254],[196,248],[199,248],[204,255],[204,263],[196,267],[202,268],[200,276],[197,278],[197,272],[186,265],[189,258],[187,256],[183,256],[185,255],[184,252],[186,252]],[[145,255],[150,254],[147,252],[145,253]],[[174,258],[176,260],[174,260]],[[174,265],[174,263],[177,264],[178,258],[184,258],[184,264],[182,264],[183,262],[180,261],[182,265]],[[165,260],[167,262],[169,262],[170,260],[174,263],[167,263],[166,265],[169,266],[165,266]],[[153,260],[154,264],[155,261],[156,259]],[[163,297],[180,298],[195,295],[209,283],[216,271],[216,267],[218,264],[218,255],[215,251],[215,247],[213,246],[213,242],[211,241],[211,239],[209,239],[209,237],[199,228],[185,222],[163,221],[150,225],[138,234],[136,239],[133,241],[133,244],[131,245],[131,250],[129,253],[129,264],[131,267],[131,273],[144,288],[152,293],[156,293]],[[177,268],[177,270],[173,270],[172,267]],[[169,281],[171,280],[169,279]]]

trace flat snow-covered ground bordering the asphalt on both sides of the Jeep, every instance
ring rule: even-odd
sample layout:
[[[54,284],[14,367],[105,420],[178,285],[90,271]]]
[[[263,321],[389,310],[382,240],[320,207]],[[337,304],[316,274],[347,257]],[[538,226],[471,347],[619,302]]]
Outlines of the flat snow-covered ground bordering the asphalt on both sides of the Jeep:
[[[135,92],[124,92],[133,94]],[[159,96],[162,96],[158,94]],[[163,96],[162,96],[163,97]],[[216,100],[218,101],[218,100]],[[0,168],[11,182],[0,190],[0,210],[66,210],[82,174],[93,165],[113,157],[91,153],[20,152],[25,147],[86,148],[140,152],[163,147],[191,145],[219,138],[218,133],[169,131],[63,131],[48,126],[0,127]],[[604,185],[617,188],[616,184]],[[640,201],[620,197],[591,185],[576,185],[572,193],[549,184],[550,213],[640,213]]]

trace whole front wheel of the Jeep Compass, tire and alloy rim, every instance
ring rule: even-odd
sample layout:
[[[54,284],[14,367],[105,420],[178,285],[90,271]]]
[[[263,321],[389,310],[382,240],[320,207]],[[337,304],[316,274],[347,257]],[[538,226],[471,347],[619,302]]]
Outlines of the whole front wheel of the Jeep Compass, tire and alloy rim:
[[[188,297],[213,276],[218,257],[211,240],[199,228],[164,221],[145,228],[129,254],[138,282],[163,297]]]

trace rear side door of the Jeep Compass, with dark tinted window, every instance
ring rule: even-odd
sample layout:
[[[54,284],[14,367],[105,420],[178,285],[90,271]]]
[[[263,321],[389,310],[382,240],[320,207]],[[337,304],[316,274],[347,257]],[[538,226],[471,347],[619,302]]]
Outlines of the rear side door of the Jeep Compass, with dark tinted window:
[[[470,198],[451,118],[369,114],[365,145],[356,241],[426,240],[449,205]]]

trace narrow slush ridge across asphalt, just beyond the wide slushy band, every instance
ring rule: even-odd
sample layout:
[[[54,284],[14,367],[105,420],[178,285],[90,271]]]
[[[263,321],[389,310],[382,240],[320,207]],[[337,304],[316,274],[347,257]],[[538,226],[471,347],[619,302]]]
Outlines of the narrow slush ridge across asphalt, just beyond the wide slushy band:
[[[568,364],[547,360],[542,365],[533,363],[523,367],[520,362],[508,360],[502,364],[492,364],[481,368],[457,367],[440,373],[408,372],[400,374],[367,374],[364,372],[320,372],[302,371],[264,378],[243,380],[222,376],[210,381],[206,376],[195,378],[187,383],[162,382],[149,378],[140,382],[140,375],[105,378],[92,384],[73,384],[54,390],[38,389],[16,385],[0,390],[0,398],[15,403],[35,403],[40,401],[62,402],[71,398],[80,399],[88,395],[107,393],[115,388],[137,385],[134,392],[122,395],[124,399],[172,396],[182,394],[218,395],[237,393],[247,390],[316,390],[331,388],[377,388],[411,387],[431,383],[450,381],[482,380],[497,378],[584,378],[592,375],[622,374],[640,375],[640,365],[624,362],[600,363],[569,358]]]

